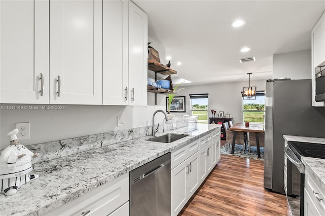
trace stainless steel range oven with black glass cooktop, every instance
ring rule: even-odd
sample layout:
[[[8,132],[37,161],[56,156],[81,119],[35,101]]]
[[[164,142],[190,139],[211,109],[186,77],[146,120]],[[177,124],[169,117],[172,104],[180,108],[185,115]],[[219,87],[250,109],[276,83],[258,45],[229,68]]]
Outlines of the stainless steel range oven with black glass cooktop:
[[[325,159],[325,149],[323,144],[288,141],[284,149],[287,174],[284,179],[284,190],[291,212],[294,216],[304,215],[304,187],[305,187],[305,165],[301,157],[323,158]],[[285,171],[285,170],[284,170]]]

